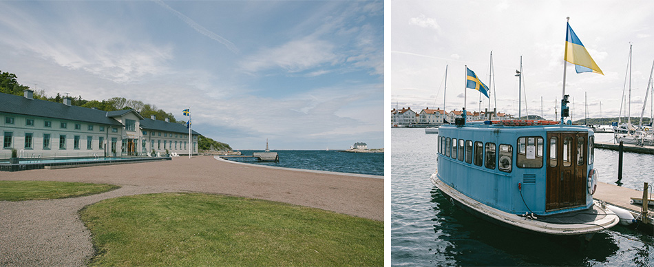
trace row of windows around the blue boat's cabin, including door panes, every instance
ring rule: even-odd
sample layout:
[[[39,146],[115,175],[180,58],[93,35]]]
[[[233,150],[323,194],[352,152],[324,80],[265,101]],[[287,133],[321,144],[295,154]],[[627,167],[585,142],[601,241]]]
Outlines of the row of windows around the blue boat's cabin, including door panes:
[[[586,138],[580,136],[573,140],[572,137],[566,136],[562,140],[563,149],[561,154],[557,153],[559,140],[553,136],[549,140],[549,166],[556,167],[559,162],[558,157],[562,157],[562,164],[564,167],[570,167],[572,164],[581,166],[584,164],[593,164],[595,160],[594,148],[595,137],[588,138],[588,145],[586,145]],[[573,144],[576,142],[576,144]],[[524,136],[519,137],[516,142],[516,166],[524,169],[539,169],[543,166],[544,156],[544,140],[542,136]],[[584,159],[588,149],[588,162]],[[573,151],[576,149],[576,151]],[[445,157],[451,157],[455,160],[475,164],[479,167],[486,167],[487,169],[497,169],[499,171],[511,172],[513,166],[513,146],[507,144],[500,144],[496,146],[494,142],[480,142],[472,140],[463,140],[456,138],[449,138],[445,136],[439,137],[439,153]],[[576,158],[573,158],[576,157]]]

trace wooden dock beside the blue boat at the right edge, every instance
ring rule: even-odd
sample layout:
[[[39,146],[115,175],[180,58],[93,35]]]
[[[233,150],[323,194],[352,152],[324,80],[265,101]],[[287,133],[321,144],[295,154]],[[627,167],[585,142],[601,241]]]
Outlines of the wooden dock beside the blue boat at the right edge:
[[[643,221],[642,218],[639,218],[642,211],[642,204],[631,204],[631,197],[642,199],[643,191],[628,189],[614,184],[606,184],[604,182],[598,182],[597,191],[593,195],[595,200],[601,200],[606,202],[606,204],[611,204],[629,211],[634,218],[638,219],[636,224],[640,222],[640,224],[645,223],[650,227],[654,226],[653,207],[648,206],[648,215],[646,216],[648,220]],[[648,196],[648,198],[651,198],[651,196]]]

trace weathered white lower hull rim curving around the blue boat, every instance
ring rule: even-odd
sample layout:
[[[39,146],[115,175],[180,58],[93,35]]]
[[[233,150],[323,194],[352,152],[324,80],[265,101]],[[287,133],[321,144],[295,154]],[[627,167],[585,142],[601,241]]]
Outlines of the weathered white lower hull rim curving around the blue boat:
[[[437,173],[432,174],[430,180],[447,199],[463,210],[481,217],[483,220],[508,226],[509,228],[518,228],[547,235],[591,235],[611,228],[620,222],[620,218],[615,213],[602,208],[597,202],[588,210],[529,219],[494,209],[471,197],[467,197],[442,182]]]

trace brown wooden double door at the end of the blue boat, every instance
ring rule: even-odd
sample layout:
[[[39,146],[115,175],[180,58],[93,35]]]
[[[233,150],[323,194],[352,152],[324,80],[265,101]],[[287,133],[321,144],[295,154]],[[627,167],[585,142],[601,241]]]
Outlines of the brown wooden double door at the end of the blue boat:
[[[584,132],[547,133],[547,211],[586,204],[587,137]]]

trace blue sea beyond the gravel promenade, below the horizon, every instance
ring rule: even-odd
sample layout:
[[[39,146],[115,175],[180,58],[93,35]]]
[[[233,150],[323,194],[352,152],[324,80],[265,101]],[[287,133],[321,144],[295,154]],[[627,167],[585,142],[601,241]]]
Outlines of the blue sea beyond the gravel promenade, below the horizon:
[[[242,150],[241,154],[251,156],[260,150]],[[346,153],[335,150],[279,150],[279,162],[250,162],[284,168],[336,171],[383,175],[383,153]]]

